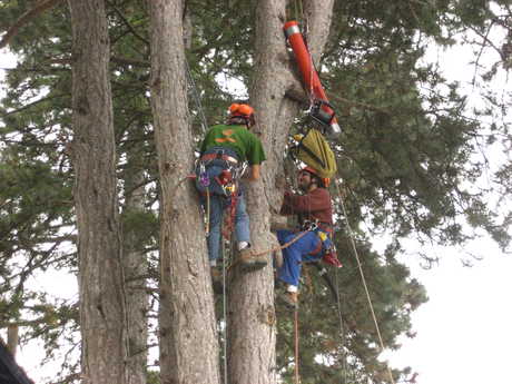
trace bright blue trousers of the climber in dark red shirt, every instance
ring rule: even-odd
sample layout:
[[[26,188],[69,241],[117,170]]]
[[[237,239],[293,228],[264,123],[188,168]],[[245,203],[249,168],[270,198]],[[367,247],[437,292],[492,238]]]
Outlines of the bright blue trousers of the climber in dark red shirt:
[[[277,230],[277,240],[280,245],[293,240],[302,233],[292,230]],[[283,249],[283,266],[277,270],[277,278],[291,285],[298,286],[302,262],[313,262],[322,258],[322,252],[309,255],[318,248],[322,240],[314,232],[308,232],[297,242]]]

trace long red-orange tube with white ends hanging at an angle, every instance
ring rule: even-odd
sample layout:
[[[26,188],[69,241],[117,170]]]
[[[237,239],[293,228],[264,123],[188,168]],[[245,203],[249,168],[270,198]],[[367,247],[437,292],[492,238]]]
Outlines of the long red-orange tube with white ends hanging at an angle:
[[[334,109],[328,104],[318,73],[313,66],[313,59],[304,41],[298,22],[294,20],[288,21],[284,24],[283,29],[295,55],[304,87],[308,91],[312,100],[309,115],[314,120],[321,122],[325,127],[325,131],[329,137],[337,137],[342,132],[342,129],[335,117]]]

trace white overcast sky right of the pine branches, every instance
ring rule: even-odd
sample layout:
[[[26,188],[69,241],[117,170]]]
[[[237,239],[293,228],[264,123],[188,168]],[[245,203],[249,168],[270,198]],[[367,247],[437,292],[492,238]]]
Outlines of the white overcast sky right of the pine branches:
[[[493,38],[490,36],[490,38]],[[470,105],[480,105],[481,98],[472,81],[475,68],[470,46],[445,51],[433,49],[445,77],[463,85]],[[493,51],[484,51],[480,63],[486,68],[498,61]],[[494,81],[495,91],[510,90],[506,73]],[[505,95],[505,93],[503,93]],[[506,95],[505,95],[506,97]],[[510,121],[510,117],[508,118]],[[510,156],[501,150],[485,154],[490,166],[496,169]],[[489,180],[483,179],[482,183]],[[510,205],[509,198],[509,206]],[[411,245],[412,249],[414,245]],[[397,366],[410,365],[419,372],[417,384],[510,384],[509,364],[512,345],[512,257],[503,254],[496,244],[483,237],[457,249],[436,249],[441,262],[430,270],[408,258],[413,276],[422,282],[430,302],[413,314],[414,339],[404,341],[404,347],[393,354]],[[467,255],[482,260],[473,267],[463,266]]]

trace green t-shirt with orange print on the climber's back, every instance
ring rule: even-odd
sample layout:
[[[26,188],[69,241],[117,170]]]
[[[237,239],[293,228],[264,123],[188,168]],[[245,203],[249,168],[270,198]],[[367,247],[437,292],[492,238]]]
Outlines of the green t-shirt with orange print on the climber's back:
[[[211,147],[226,147],[234,149],[240,161],[247,160],[249,165],[262,164],[266,160],[262,141],[245,126],[213,126],[205,136],[200,146],[204,154]]]

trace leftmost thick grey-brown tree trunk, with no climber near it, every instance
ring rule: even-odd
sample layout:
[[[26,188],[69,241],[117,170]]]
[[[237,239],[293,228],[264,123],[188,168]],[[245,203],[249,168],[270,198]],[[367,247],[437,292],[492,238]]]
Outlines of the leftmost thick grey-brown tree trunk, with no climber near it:
[[[83,383],[125,384],[128,345],[107,19],[102,0],[69,0],[69,7]]]

